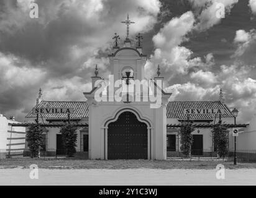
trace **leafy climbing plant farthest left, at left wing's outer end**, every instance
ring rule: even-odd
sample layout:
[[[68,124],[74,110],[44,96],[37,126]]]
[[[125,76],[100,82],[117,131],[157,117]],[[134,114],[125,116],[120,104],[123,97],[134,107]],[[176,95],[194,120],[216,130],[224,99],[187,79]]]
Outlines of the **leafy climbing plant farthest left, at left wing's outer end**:
[[[39,124],[31,124],[27,127],[26,140],[32,158],[39,156],[39,151],[43,145],[43,133],[45,132],[47,129]]]

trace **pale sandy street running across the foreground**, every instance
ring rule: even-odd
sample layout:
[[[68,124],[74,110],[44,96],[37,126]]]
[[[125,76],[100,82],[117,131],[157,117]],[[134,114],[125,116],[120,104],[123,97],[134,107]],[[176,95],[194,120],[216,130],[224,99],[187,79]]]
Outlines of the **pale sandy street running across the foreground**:
[[[49,170],[40,169],[39,179],[29,178],[29,169],[1,169],[0,185],[255,185],[256,169],[226,170],[226,179],[216,179],[216,170]]]

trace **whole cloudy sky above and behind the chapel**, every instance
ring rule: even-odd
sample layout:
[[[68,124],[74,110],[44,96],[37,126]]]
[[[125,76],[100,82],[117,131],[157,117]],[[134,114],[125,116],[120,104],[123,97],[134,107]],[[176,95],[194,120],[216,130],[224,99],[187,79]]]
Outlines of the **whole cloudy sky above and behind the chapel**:
[[[24,116],[44,100],[84,101],[90,77],[110,74],[107,54],[130,14],[144,34],[147,77],[160,64],[171,100],[217,100],[239,122],[256,113],[256,0],[0,0],[0,113]],[[225,6],[225,18],[217,17]]]

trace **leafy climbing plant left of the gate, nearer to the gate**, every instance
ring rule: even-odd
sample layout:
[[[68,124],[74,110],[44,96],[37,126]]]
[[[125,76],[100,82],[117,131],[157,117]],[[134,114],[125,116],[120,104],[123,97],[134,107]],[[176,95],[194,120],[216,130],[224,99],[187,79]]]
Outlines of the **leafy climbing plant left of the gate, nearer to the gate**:
[[[77,142],[77,127],[73,124],[65,124],[61,127],[60,133],[62,134],[63,146],[66,150],[68,157],[73,157],[76,153]]]

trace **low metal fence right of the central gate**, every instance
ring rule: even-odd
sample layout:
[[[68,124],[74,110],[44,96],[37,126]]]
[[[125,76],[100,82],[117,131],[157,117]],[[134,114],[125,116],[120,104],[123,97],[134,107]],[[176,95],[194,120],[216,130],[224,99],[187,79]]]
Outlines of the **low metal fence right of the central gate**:
[[[238,162],[256,162],[256,150],[237,150]],[[191,150],[190,155],[185,155],[180,150],[168,151],[167,160],[234,160],[234,150],[227,150],[224,156],[219,156],[213,150]]]

